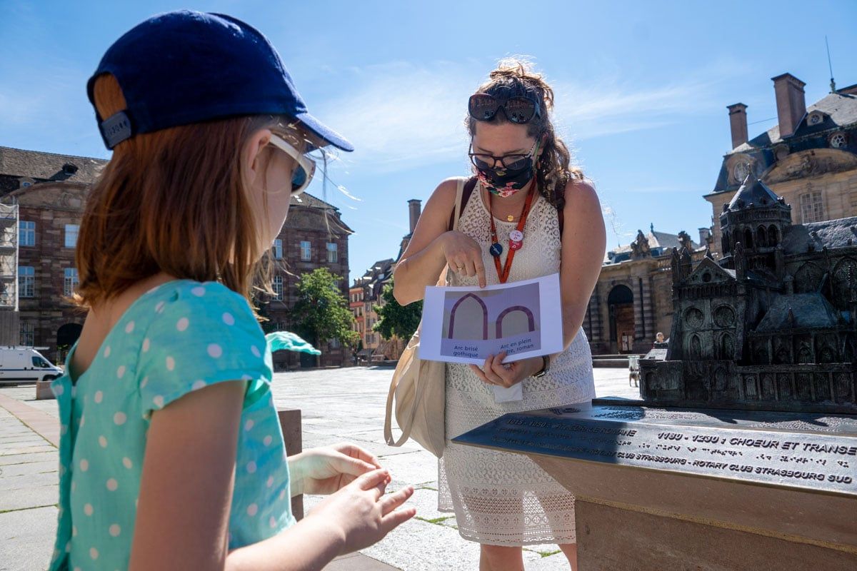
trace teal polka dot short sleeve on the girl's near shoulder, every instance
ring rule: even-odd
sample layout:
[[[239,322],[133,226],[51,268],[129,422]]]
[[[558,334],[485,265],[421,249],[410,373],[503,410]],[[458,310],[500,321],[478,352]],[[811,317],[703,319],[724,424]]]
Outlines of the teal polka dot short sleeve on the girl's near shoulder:
[[[265,336],[243,296],[183,283],[153,309],[138,360],[144,416],[209,384],[245,380],[249,392],[270,384]]]

